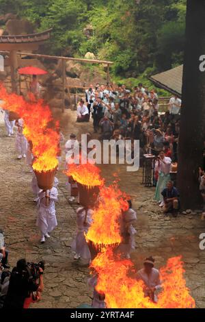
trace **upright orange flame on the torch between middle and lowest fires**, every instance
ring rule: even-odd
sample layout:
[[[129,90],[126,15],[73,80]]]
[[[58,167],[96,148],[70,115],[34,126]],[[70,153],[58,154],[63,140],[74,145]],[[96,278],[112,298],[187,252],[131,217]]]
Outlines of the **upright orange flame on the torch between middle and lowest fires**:
[[[100,188],[98,207],[92,215],[93,223],[87,232],[87,240],[95,245],[119,244],[120,216],[122,210],[128,209],[127,196],[122,193],[117,185]]]

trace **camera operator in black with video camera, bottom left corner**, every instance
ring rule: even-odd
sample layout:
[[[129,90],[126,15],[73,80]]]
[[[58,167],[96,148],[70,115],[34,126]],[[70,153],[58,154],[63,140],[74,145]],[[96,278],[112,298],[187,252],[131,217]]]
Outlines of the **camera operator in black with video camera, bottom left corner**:
[[[44,262],[34,264],[18,260],[12,269],[3,308],[29,308],[31,303],[40,301],[44,289],[43,271]]]

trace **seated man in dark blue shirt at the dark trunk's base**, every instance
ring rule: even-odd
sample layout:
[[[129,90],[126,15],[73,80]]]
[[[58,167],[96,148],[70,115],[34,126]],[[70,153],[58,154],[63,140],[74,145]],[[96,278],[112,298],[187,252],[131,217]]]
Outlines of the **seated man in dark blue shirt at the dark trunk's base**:
[[[167,182],[167,187],[162,191],[161,195],[163,195],[165,203],[163,206],[163,213],[173,212],[174,216],[176,216],[177,211],[180,208],[179,193],[172,181]]]

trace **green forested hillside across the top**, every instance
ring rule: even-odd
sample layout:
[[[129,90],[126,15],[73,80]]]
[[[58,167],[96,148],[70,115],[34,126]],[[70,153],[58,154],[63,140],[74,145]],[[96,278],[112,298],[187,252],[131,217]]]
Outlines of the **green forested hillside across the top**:
[[[44,53],[112,60],[130,85],[182,64],[186,0],[0,0],[0,13],[53,27]]]

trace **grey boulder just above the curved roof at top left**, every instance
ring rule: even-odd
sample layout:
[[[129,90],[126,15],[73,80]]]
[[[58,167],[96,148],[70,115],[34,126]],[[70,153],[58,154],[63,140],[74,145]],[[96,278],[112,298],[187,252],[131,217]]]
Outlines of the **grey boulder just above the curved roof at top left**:
[[[33,24],[27,20],[10,19],[5,24],[5,32],[12,35],[33,34]]]

